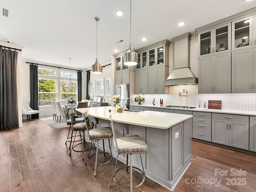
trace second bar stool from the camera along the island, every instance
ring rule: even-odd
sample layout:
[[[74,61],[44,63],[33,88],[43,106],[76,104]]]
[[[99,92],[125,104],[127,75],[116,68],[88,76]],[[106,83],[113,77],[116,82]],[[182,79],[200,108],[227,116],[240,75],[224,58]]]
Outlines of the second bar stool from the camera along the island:
[[[111,130],[110,127],[91,129],[91,128],[90,128],[90,124],[89,124],[88,112],[87,112],[87,111],[86,111],[85,114],[84,114],[84,118],[85,118],[85,123],[86,123],[86,128],[87,128],[87,131],[88,131],[89,139],[92,140],[92,142],[93,142],[94,140],[97,141],[96,153],[90,155],[90,151],[91,151],[91,148],[92,148],[92,142],[91,142],[91,146],[90,146],[88,158],[87,158],[87,160],[86,160],[86,162],[85,162],[85,165],[86,165],[87,163],[90,164],[90,165],[94,165],[94,177],[96,177],[96,169],[97,169],[97,166],[105,165],[105,164],[109,163],[109,162],[112,161],[112,160],[113,160],[113,163],[114,163],[114,159],[113,159],[112,151],[111,151],[111,146],[110,146],[110,139],[112,139],[113,133],[112,133],[112,130]],[[105,146],[104,146],[104,140],[105,140],[105,139],[108,140],[108,144],[109,144],[109,148],[110,148],[110,153],[105,152]],[[103,141],[103,152],[98,152],[100,140]],[[99,153],[103,153],[103,154],[104,154],[104,158],[106,158],[106,154],[110,155],[110,156],[111,156],[110,160],[108,160],[108,162],[104,162],[104,163],[102,163],[102,164],[98,164],[98,154],[99,154]],[[92,164],[92,163],[89,162],[89,159],[90,159],[92,156],[94,156],[94,155],[96,155],[95,164]],[[114,166],[115,166],[115,163],[114,163]]]

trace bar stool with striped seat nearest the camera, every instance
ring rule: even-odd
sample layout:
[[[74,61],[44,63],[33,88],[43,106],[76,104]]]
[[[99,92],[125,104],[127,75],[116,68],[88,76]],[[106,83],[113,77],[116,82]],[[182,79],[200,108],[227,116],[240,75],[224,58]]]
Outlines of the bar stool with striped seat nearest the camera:
[[[109,122],[110,122],[110,127],[111,127],[112,132],[113,132],[114,147],[115,147],[115,150],[117,152],[116,164],[117,164],[117,160],[118,160],[119,155],[126,154],[127,159],[126,159],[126,166],[123,166],[123,167],[119,168],[118,170],[116,170],[116,165],[115,165],[114,174],[113,174],[113,176],[110,180],[108,188],[111,187],[112,180],[114,180],[114,182],[118,186],[120,186],[122,188],[130,189],[130,192],[132,192],[132,189],[141,186],[145,179],[146,179],[146,184],[148,184],[148,181],[147,181],[147,178],[146,178],[146,175],[145,175],[145,171],[144,171],[144,167],[143,167],[143,163],[142,163],[142,158],[141,158],[141,154],[146,154],[148,152],[148,146],[146,145],[144,140],[142,140],[142,138],[140,138],[140,136],[138,136],[138,135],[116,138],[115,129],[114,129],[114,122],[111,118],[111,115],[109,116]],[[130,154],[130,166],[128,166],[128,154]],[[132,166],[132,154],[140,154],[140,161],[141,161],[143,171],[141,169],[139,169],[138,167]],[[115,175],[122,168],[126,168],[126,173],[128,173],[128,168],[129,167],[130,167],[130,186],[129,187],[128,186],[122,186],[116,181]],[[132,186],[132,169],[138,170],[143,175],[142,182],[140,184],[138,184],[137,186],[135,186],[135,187]]]

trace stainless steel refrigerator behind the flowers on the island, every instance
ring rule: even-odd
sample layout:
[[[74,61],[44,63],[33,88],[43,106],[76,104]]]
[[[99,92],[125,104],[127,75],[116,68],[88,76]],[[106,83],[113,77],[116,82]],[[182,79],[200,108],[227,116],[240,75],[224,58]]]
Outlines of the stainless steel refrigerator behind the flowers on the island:
[[[124,108],[129,109],[130,105],[130,88],[129,84],[120,84],[120,85],[114,85],[114,95],[120,95],[121,97],[121,106],[123,106],[123,100],[124,100]]]

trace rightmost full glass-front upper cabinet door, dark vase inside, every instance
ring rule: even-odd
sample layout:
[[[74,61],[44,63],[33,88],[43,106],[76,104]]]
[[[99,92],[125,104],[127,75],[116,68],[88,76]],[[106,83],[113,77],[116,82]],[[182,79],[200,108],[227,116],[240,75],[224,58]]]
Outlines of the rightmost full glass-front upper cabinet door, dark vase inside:
[[[241,50],[252,47],[253,16],[232,22],[232,50]]]

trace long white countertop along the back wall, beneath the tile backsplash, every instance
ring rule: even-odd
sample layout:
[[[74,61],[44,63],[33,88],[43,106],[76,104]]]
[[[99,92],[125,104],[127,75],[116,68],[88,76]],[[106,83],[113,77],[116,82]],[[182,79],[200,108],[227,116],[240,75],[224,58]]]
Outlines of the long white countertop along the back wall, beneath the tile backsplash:
[[[144,104],[143,105],[130,104],[130,106],[154,107],[154,108],[176,109],[176,110],[186,110],[186,111],[203,111],[203,112],[211,112],[211,113],[224,113],[224,114],[256,116],[255,111],[223,110],[223,109],[220,110],[220,109],[208,109],[208,108],[184,109],[184,108],[170,108],[170,107],[165,107],[165,106],[162,107],[160,105],[144,105]]]

